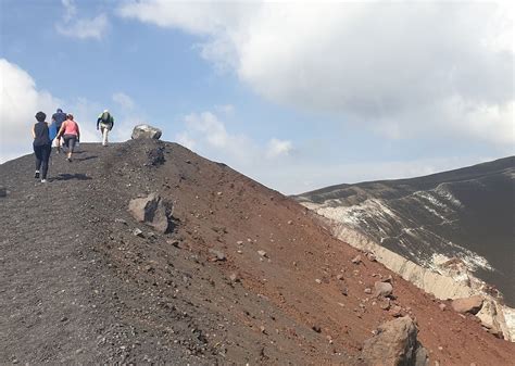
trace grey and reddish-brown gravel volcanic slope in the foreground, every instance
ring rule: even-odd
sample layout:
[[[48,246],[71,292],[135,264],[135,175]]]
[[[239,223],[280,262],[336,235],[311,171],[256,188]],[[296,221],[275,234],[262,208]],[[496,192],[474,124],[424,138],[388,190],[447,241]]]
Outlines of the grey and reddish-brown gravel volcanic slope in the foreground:
[[[32,155],[0,165],[0,364],[356,365],[392,318],[364,291],[388,276],[430,364],[513,364],[515,344],[353,264],[317,216],[224,164],[154,140],[52,156],[48,184]],[[169,234],[127,211],[151,192],[174,204]]]

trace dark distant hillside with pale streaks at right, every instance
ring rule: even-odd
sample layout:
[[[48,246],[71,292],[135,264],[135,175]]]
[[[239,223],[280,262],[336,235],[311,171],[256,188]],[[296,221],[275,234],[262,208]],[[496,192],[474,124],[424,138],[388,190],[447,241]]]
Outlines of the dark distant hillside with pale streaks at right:
[[[438,254],[462,258],[515,305],[515,156],[296,199],[417,264],[431,266]]]

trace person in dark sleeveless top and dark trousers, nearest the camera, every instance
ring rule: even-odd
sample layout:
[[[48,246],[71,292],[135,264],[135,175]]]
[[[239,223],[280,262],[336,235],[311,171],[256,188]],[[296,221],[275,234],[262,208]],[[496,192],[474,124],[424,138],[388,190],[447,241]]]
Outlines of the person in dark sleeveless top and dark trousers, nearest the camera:
[[[41,182],[47,182],[48,161],[52,152],[52,140],[50,140],[46,118],[47,115],[43,112],[36,113],[37,123],[33,126],[33,148],[36,155],[36,173],[34,178],[41,178]]]

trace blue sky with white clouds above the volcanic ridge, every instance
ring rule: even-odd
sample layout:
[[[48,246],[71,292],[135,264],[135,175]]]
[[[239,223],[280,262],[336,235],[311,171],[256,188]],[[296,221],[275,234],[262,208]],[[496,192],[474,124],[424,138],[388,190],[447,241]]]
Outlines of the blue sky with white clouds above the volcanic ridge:
[[[163,130],[282,193],[515,152],[510,2],[0,0],[0,163],[34,115]]]

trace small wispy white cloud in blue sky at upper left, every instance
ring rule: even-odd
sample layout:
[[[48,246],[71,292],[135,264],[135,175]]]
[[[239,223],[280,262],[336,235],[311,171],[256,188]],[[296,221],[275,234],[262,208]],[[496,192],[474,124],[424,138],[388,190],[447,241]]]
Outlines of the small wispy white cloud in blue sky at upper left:
[[[77,7],[74,0],[61,0],[64,7],[64,16],[55,24],[59,34],[78,39],[102,39],[108,30],[108,15],[99,14],[91,18],[78,17]]]

